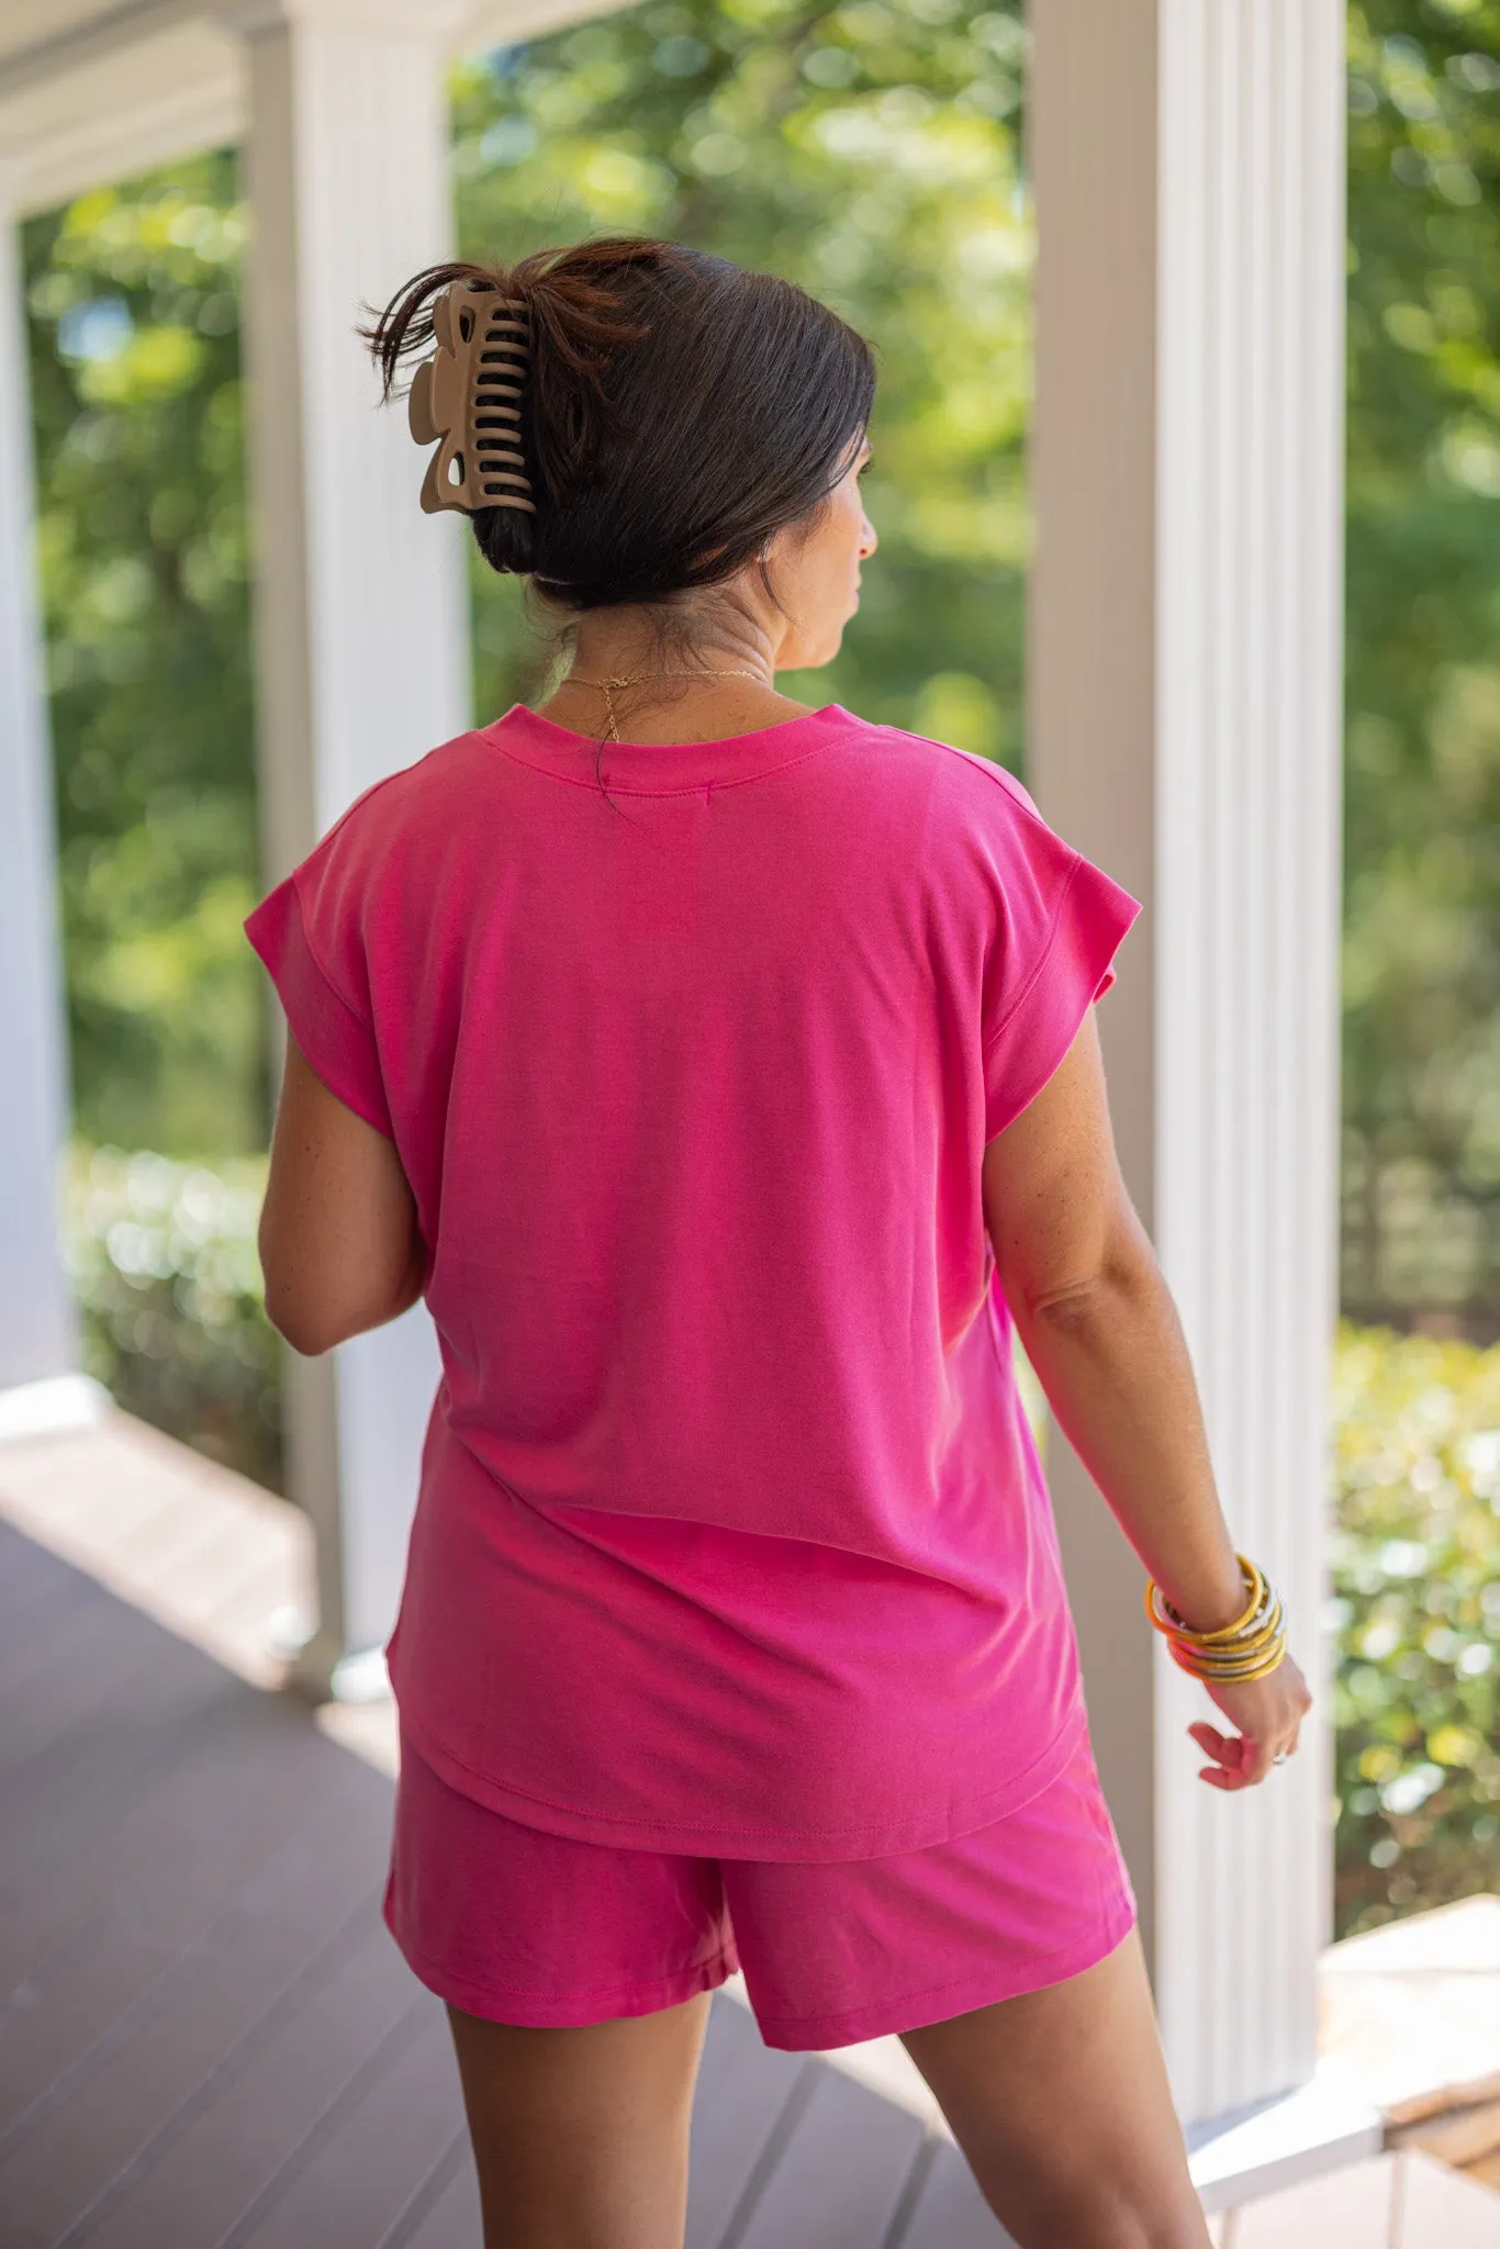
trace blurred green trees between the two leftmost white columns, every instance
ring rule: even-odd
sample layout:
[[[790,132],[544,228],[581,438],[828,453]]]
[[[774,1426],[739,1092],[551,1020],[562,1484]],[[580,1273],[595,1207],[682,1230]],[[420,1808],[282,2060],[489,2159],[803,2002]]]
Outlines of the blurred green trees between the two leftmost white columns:
[[[234,162],[27,227],[74,1111],[261,1145]]]

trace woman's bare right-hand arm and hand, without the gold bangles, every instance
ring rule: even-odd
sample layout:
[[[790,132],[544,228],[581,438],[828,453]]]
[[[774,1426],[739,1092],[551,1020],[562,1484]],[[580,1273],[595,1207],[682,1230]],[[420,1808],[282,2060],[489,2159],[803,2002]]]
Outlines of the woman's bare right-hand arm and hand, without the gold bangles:
[[[1059,1428],[1178,1617],[1201,1633],[1232,1624],[1235,1541],[1176,1304],[1120,1174],[1093,1008],[985,1149],[983,1192],[1001,1286]],[[1194,1727],[1214,1759],[1205,1779],[1264,1779],[1295,1747],[1302,1673],[1284,1658],[1266,1680],[1210,1691],[1241,1741]]]

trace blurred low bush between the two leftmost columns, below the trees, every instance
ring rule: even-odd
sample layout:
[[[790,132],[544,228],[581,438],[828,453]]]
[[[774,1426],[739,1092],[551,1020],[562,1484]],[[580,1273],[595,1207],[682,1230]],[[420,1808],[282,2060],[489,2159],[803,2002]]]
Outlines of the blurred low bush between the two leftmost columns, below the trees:
[[[265,1158],[171,1163],[74,1145],[63,1241],[83,1365],[128,1410],[281,1489],[281,1345],[256,1221]]]

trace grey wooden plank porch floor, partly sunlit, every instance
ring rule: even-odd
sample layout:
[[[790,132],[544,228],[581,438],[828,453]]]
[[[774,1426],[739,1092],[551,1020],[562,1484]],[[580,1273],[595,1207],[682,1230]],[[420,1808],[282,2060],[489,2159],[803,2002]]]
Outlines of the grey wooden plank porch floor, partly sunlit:
[[[479,2249],[378,1912],[389,1709],[274,1691],[304,1577],[301,1518],[124,1417],[0,1448],[0,2249]],[[1412,2152],[1212,2224],[1500,2249],[1500,2197]],[[715,1995],[688,2249],[1005,2242],[900,2042],[776,2053]]]

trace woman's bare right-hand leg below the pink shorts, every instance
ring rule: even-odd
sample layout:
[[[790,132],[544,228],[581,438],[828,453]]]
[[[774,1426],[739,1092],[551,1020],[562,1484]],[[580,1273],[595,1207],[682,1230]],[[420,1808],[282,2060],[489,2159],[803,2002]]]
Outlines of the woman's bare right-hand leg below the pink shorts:
[[[1136,1932],[904,2047],[1021,2249],[1208,2249]]]

